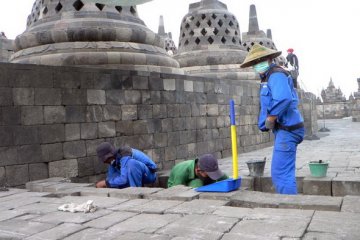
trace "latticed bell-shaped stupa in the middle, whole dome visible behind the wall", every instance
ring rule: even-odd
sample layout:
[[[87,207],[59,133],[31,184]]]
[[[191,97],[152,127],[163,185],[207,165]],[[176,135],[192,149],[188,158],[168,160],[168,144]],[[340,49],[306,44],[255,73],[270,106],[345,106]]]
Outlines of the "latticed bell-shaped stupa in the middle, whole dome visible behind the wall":
[[[239,23],[218,0],[190,4],[181,22],[178,51],[174,58],[188,74],[255,78],[253,72],[240,70],[247,52],[241,44]]]

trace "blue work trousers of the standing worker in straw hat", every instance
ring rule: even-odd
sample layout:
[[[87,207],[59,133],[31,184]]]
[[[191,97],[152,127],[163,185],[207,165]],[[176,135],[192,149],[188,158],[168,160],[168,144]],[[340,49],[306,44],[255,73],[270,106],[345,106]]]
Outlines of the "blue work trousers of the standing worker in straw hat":
[[[280,194],[297,194],[295,162],[297,145],[304,139],[304,128],[294,131],[274,130],[275,143],[271,163],[271,178]]]

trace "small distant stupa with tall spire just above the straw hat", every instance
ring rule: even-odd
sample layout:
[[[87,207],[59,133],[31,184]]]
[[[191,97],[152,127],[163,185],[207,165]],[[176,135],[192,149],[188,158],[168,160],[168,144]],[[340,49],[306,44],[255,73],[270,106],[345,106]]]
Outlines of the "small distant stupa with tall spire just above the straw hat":
[[[258,43],[270,49],[276,49],[275,43],[272,40],[271,30],[268,29],[266,33],[259,28],[259,22],[256,13],[255,5],[250,5],[250,14],[249,14],[249,31],[242,34],[243,46],[247,51],[251,47]]]

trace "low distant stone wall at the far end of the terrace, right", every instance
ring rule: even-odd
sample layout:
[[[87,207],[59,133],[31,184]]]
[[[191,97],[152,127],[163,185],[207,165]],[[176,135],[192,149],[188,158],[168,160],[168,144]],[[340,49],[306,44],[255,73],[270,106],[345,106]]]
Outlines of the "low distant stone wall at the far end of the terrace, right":
[[[337,119],[351,116],[350,102],[320,103],[316,105],[319,119]]]

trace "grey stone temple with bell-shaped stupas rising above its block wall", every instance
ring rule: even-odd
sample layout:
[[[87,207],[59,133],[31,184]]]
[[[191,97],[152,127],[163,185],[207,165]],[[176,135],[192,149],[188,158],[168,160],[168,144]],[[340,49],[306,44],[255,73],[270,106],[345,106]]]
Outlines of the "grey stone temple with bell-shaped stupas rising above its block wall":
[[[105,140],[144,150],[160,170],[204,153],[228,157],[230,99],[238,151],[271,145],[272,135],[257,128],[258,76],[239,68],[248,44],[275,48],[254,14],[251,6],[242,40],[225,4],[192,3],[176,52],[165,45],[163,19],[154,33],[136,6],[36,0],[10,63],[0,64],[0,183],[94,182],[106,171],[95,154]],[[310,134],[311,103],[301,105]]]

